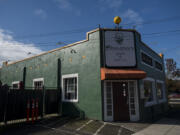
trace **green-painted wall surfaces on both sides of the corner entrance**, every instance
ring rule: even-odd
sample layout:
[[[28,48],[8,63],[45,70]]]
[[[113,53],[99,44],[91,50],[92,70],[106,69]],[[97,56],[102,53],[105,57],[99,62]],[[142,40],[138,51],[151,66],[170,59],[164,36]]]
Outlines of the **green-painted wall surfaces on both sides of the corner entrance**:
[[[140,35],[135,33],[137,69],[144,70],[147,77],[155,80],[165,80],[165,73],[155,70],[141,63],[140,52],[146,52],[153,59],[163,63],[163,59],[140,41]],[[61,75],[75,74],[79,76],[78,96],[76,103],[63,102],[62,114],[77,116],[81,115],[91,119],[103,119],[103,86],[100,77],[100,67],[105,66],[104,58],[104,31],[96,31],[89,34],[89,41],[57,50],[48,54],[34,57],[16,64],[3,66],[0,69],[0,80],[11,85],[13,81],[25,80],[25,87],[33,86],[33,79],[44,78],[45,87],[59,88]],[[101,44],[101,45],[100,45]],[[59,61],[59,62],[58,62]],[[164,64],[164,63],[163,63]],[[164,67],[164,66],[163,66]],[[24,73],[26,68],[26,73]],[[140,85],[138,80],[138,95],[140,97]],[[154,115],[159,115],[167,110],[167,102],[144,107],[143,99],[139,98],[140,118],[151,118],[152,109]],[[148,114],[148,115],[147,115]]]

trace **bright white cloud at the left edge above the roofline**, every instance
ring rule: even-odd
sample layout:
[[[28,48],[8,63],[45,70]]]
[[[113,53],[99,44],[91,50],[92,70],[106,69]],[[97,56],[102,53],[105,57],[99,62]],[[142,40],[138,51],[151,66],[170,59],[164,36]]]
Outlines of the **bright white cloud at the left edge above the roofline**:
[[[15,41],[9,32],[0,29],[0,66],[3,61],[13,62],[42,52],[34,44]]]

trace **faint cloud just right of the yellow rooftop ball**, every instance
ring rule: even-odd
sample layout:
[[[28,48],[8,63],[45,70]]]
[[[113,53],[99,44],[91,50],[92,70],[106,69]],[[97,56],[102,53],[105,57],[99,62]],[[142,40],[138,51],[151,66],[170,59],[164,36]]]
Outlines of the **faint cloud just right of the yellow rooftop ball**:
[[[132,24],[134,26],[140,27],[143,23],[143,18],[134,10],[128,9],[122,14],[123,22],[125,24]]]

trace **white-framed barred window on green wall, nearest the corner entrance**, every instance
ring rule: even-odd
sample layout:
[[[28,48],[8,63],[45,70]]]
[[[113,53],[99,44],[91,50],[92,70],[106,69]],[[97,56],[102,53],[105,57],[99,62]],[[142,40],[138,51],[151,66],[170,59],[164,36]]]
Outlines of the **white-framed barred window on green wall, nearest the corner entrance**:
[[[77,77],[63,78],[63,90],[65,101],[77,101]]]

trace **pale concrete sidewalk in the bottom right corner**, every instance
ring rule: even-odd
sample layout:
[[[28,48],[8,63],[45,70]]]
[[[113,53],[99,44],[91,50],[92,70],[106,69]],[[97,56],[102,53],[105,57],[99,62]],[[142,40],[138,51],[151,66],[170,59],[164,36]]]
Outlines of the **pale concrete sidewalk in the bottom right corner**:
[[[180,135],[180,121],[164,118],[133,135]]]

